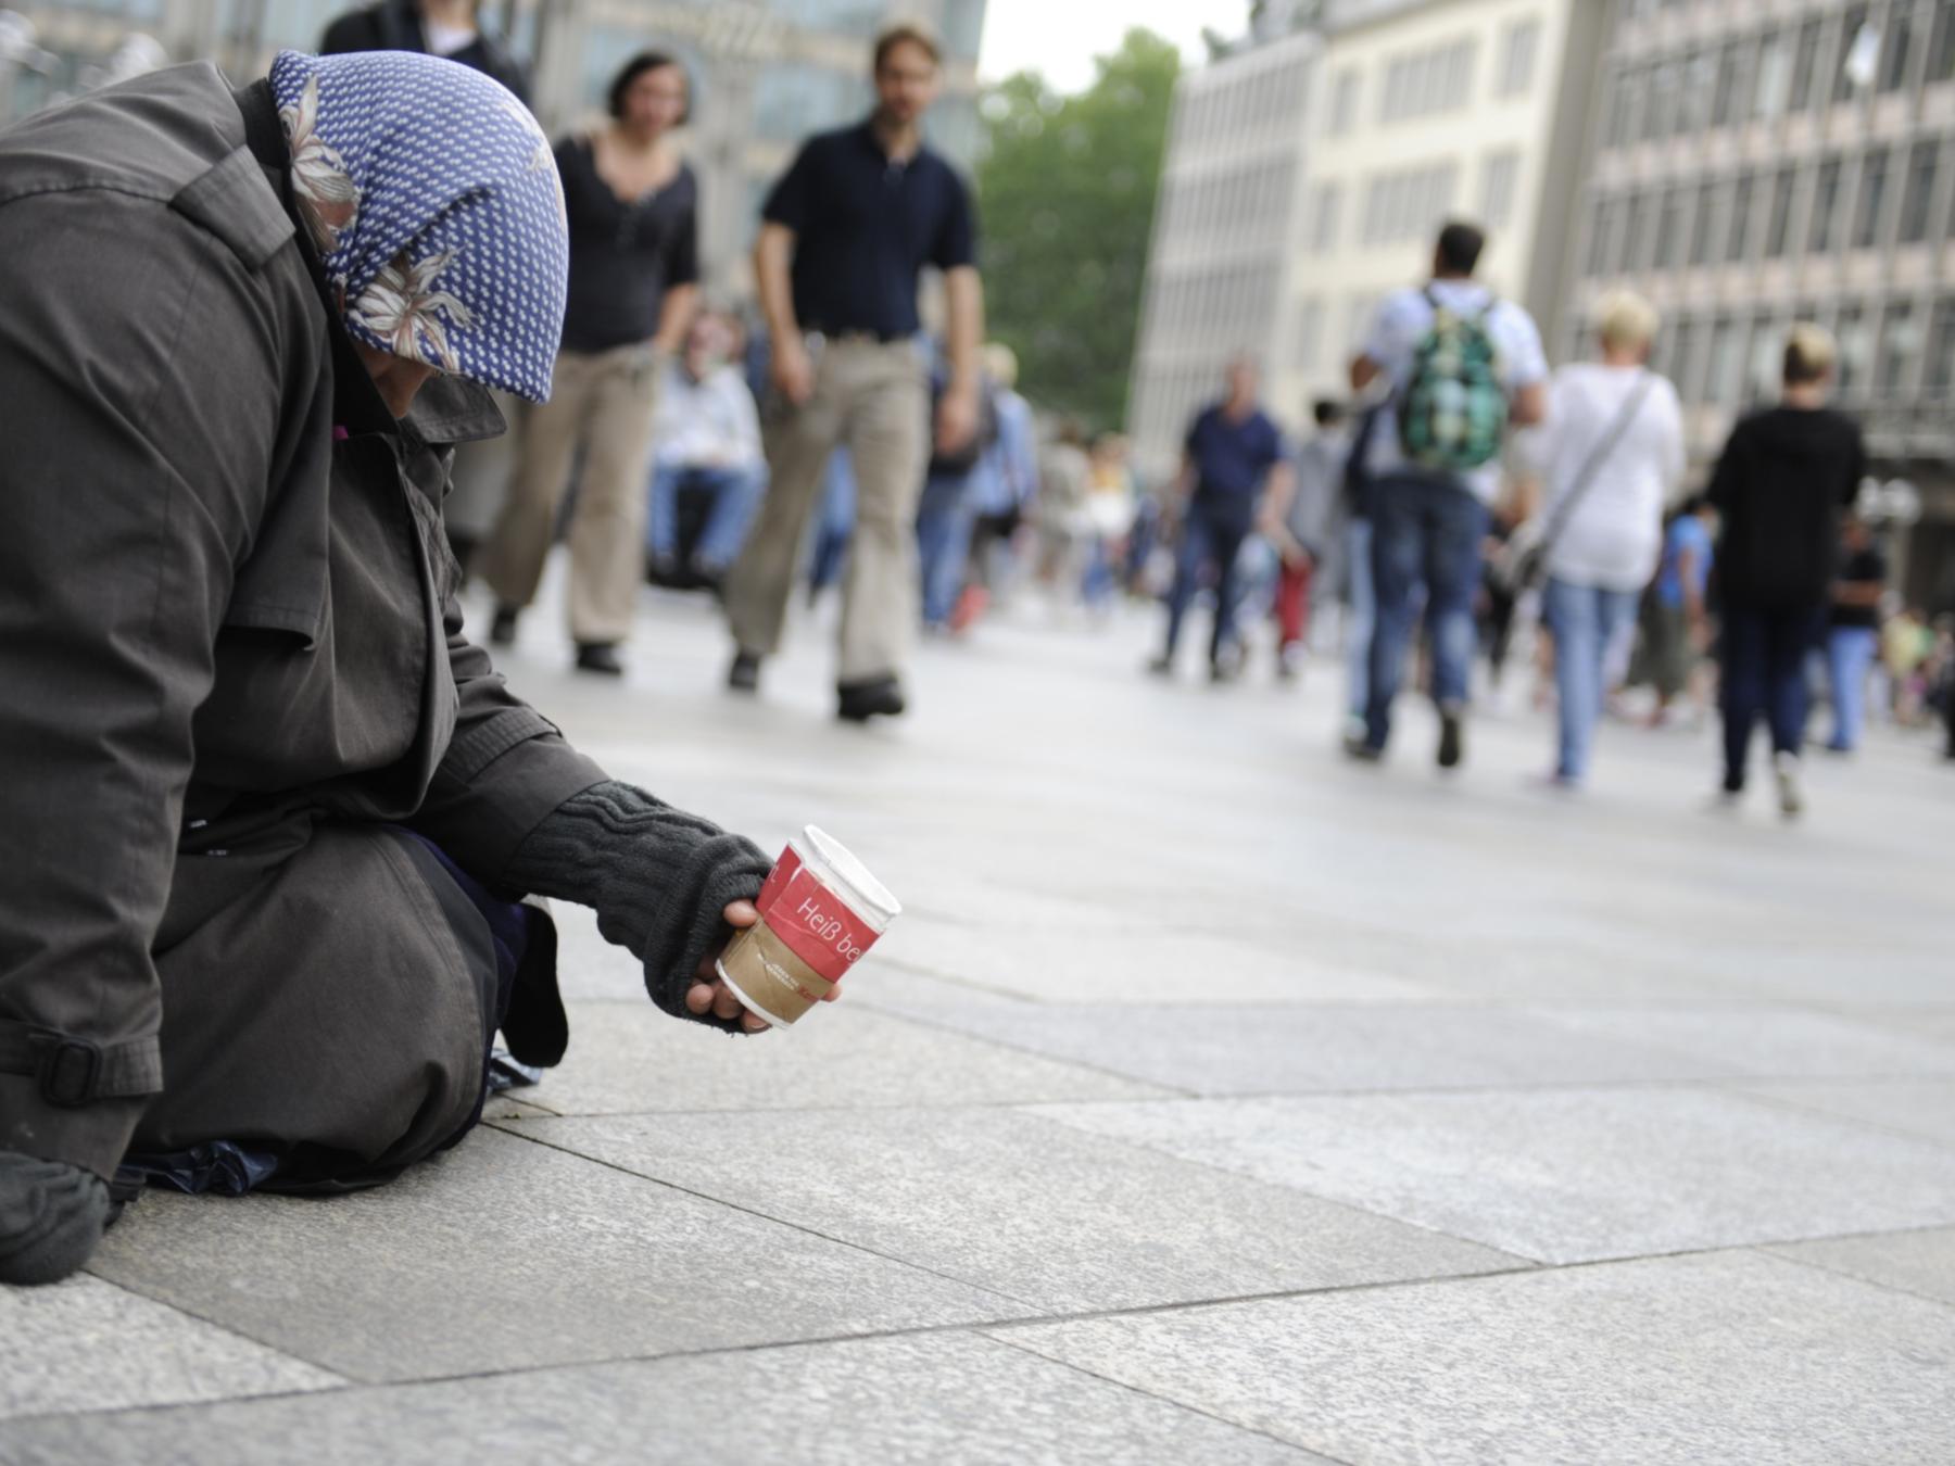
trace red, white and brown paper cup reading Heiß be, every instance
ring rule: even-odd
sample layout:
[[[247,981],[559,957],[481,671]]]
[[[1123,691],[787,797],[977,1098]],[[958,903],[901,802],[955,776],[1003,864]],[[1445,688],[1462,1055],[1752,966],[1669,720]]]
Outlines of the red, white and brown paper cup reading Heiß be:
[[[755,905],[760,921],[727,942],[716,966],[739,1001],[778,1028],[833,993],[903,911],[868,866],[813,825],[788,841]]]

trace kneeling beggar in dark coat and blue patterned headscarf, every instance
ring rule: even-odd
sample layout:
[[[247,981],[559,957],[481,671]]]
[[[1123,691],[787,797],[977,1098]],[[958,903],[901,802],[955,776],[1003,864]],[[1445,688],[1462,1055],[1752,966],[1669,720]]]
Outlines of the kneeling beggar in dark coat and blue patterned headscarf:
[[[0,1282],[86,1263],[119,1163],[346,1190],[461,1140],[497,1030],[567,1040],[526,893],[764,1026],[712,956],[766,856],[461,635],[448,455],[549,391],[557,188],[502,88],[401,53],[0,135]]]

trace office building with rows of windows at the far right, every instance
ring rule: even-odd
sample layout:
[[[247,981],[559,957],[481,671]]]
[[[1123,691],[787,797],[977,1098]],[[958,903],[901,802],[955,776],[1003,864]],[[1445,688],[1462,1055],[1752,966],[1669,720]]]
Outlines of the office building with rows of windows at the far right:
[[[1910,594],[1955,608],[1955,0],[1615,0],[1599,100],[1564,352],[1599,291],[1656,301],[1705,469],[1828,326]]]

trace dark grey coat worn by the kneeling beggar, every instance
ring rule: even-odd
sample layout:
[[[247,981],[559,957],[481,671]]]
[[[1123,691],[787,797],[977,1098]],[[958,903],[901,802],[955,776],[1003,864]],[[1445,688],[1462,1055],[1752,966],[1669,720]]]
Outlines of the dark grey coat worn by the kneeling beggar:
[[[0,135],[0,1149],[104,1175],[465,1124],[479,932],[387,825],[495,884],[604,778],[461,635],[448,446],[499,414],[385,412],[276,127],[197,65]]]

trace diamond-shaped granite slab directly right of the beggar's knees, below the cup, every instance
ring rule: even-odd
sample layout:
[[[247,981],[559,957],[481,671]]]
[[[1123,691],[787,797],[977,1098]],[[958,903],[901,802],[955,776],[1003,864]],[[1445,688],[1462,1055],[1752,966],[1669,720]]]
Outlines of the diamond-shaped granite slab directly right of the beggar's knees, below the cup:
[[[1013,1110],[540,1120],[524,1134],[1042,1310],[1525,1267]]]

